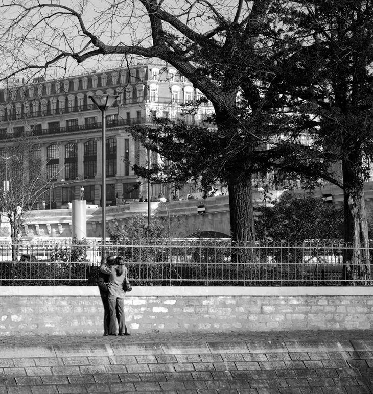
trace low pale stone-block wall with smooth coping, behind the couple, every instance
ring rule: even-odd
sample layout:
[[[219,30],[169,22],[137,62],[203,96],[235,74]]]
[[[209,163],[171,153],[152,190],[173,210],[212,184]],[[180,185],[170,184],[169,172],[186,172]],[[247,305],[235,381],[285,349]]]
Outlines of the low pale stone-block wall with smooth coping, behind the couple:
[[[133,332],[373,328],[371,287],[134,287]],[[0,287],[0,335],[103,333],[97,287]]]

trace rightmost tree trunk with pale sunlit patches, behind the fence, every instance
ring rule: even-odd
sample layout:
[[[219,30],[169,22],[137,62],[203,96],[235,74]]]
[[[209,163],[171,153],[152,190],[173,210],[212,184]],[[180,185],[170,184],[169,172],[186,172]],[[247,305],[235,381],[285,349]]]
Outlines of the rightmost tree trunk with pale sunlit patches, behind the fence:
[[[344,184],[344,243],[343,284],[372,285],[368,222],[362,174],[354,172],[353,161],[342,165]]]

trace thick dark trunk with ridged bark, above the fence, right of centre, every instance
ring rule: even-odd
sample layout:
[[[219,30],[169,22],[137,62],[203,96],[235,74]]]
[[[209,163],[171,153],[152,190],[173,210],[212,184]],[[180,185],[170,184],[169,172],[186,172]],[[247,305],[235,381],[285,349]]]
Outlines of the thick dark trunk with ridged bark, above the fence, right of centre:
[[[255,241],[251,178],[235,177],[228,181],[230,233],[232,241],[252,244]]]

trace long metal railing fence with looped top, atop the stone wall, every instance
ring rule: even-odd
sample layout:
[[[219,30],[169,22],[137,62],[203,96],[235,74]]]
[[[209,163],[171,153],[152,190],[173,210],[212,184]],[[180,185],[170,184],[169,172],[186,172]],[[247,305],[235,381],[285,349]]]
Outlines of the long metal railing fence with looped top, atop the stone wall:
[[[74,244],[51,238],[22,242],[12,259],[12,245],[2,243],[0,285],[96,285],[101,250],[98,240]],[[124,257],[133,284],[143,286],[371,285],[369,252],[370,245],[353,248],[339,241],[239,245],[191,238],[107,244],[108,254]],[[343,256],[349,256],[345,264]]]

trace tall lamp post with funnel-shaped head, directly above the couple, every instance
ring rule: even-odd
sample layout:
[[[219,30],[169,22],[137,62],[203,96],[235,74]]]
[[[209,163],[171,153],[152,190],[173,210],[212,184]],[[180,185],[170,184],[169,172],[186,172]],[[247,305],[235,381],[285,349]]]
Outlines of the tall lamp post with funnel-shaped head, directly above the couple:
[[[118,99],[119,96],[113,94],[97,94],[89,96],[96,107],[102,112],[102,253],[101,262],[106,261],[106,113]]]

